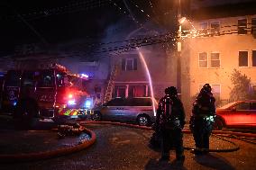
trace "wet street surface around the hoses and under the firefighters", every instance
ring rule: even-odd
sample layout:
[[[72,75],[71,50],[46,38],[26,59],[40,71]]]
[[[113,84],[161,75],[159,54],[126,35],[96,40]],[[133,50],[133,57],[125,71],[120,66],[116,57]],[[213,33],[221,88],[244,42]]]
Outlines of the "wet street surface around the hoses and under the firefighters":
[[[184,165],[180,166],[175,162],[174,151],[170,152],[169,162],[159,161],[160,151],[149,147],[151,130],[107,124],[85,124],[85,126],[96,132],[96,143],[93,146],[65,157],[15,164],[0,163],[0,169],[255,169],[256,146],[242,140],[219,139],[217,136],[211,136],[211,149],[221,151],[221,149],[232,149],[236,146],[240,149],[233,152],[213,152],[206,156],[196,157],[189,150],[195,145],[192,135],[184,134],[184,146],[187,148],[185,150],[186,160]],[[5,140],[2,140],[2,137]],[[55,130],[1,130],[0,138],[1,154],[22,152],[27,149],[27,152],[33,152],[67,147],[65,144],[78,141],[77,139],[58,139]],[[10,138],[9,141],[8,138]],[[24,139],[27,139],[27,142]],[[8,150],[8,148],[12,149]]]

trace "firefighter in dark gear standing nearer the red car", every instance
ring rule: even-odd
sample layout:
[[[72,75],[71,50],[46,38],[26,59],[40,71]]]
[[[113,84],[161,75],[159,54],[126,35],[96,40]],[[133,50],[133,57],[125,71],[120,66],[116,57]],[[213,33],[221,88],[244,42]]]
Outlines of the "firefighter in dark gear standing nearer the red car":
[[[196,149],[192,153],[196,155],[209,152],[209,137],[211,135],[215,118],[215,97],[212,88],[206,84],[193,103],[192,116],[190,118],[190,130],[196,143]]]

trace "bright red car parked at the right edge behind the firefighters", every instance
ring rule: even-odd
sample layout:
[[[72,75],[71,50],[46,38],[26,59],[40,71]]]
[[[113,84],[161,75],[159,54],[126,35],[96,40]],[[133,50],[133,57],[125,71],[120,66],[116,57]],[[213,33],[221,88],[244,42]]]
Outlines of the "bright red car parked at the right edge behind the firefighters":
[[[256,100],[236,101],[216,109],[215,130],[224,127],[256,128]]]

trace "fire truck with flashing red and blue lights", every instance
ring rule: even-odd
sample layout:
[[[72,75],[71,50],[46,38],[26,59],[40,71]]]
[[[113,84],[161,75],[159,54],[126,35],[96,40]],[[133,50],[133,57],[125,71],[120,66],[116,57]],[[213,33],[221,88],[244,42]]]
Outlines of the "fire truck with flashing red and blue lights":
[[[87,94],[87,78],[71,74],[66,67],[9,70],[2,85],[1,109],[12,112],[14,121],[32,127],[39,119],[55,122],[87,118],[92,98]]]

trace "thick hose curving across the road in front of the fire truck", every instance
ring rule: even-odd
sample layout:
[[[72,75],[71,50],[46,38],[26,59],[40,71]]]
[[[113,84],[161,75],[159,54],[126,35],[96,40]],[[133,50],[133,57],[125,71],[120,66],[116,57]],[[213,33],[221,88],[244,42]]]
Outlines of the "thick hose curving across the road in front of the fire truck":
[[[68,154],[71,154],[73,152],[78,152],[80,150],[83,150],[85,148],[90,147],[92,144],[96,141],[96,134],[92,130],[88,130],[87,128],[84,128],[83,131],[86,131],[90,136],[91,139],[86,140],[85,142],[78,144],[74,147],[70,148],[59,148],[56,150],[50,150],[45,152],[36,152],[36,153],[28,153],[28,154],[5,154],[0,155],[0,162],[24,162],[24,161],[35,161],[35,160],[41,160],[41,159],[47,159],[51,157],[60,157],[65,156]]]

